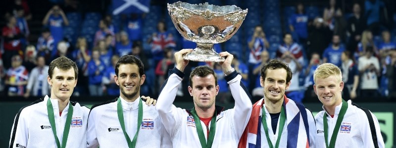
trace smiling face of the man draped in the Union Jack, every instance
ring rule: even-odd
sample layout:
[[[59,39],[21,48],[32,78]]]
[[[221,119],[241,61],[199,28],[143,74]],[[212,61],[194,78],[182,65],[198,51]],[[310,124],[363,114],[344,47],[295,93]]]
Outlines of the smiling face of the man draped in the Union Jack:
[[[260,84],[264,87],[264,98],[273,103],[283,101],[285,90],[289,89],[290,82],[286,82],[287,72],[285,69],[267,69],[266,76],[260,76]]]

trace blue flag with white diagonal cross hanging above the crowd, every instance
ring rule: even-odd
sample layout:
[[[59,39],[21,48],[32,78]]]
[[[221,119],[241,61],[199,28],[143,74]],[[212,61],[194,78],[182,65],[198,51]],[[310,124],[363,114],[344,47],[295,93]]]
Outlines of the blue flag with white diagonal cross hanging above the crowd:
[[[150,0],[112,0],[113,15],[148,13]]]

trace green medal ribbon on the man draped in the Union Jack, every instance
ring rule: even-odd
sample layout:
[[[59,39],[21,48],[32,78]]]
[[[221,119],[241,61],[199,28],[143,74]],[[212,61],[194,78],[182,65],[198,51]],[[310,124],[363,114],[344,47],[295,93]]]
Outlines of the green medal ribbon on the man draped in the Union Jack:
[[[263,108],[265,108],[265,106]],[[262,114],[263,115],[261,118],[261,122],[264,127],[265,136],[267,137],[268,146],[270,148],[274,148],[274,145],[272,145],[271,139],[269,139],[267,120],[265,119],[265,116],[266,116],[265,109],[262,109]],[[279,148],[279,142],[281,141],[283,127],[285,126],[285,123],[286,123],[286,114],[285,114],[283,105],[282,105],[281,114],[279,115],[279,117],[280,117],[280,120],[279,120],[279,129],[278,129],[278,139],[276,140],[275,148]]]

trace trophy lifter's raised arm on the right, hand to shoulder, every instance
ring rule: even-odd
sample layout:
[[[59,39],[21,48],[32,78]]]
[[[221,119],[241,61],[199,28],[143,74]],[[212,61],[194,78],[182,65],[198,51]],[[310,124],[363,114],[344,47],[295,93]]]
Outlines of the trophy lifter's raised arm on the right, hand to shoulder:
[[[233,71],[233,68],[231,67],[231,61],[234,56],[228,52],[221,52],[220,56],[226,58],[224,62],[220,62],[220,65],[223,69],[224,74],[227,74],[225,79],[230,85],[231,94],[235,99],[235,107],[233,109],[233,121],[231,124],[233,124],[233,127],[236,130],[236,136],[239,139],[241,138],[245,130],[251,114],[251,96],[248,93],[245,85],[241,82],[242,76],[238,74],[235,70]]]

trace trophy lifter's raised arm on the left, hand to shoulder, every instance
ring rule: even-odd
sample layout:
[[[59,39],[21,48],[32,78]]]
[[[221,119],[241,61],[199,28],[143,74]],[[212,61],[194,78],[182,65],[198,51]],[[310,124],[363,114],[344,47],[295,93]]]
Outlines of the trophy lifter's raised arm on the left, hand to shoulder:
[[[178,86],[183,80],[183,71],[189,63],[183,59],[183,54],[191,52],[192,49],[183,49],[175,53],[176,68],[169,71],[169,77],[166,79],[159,92],[155,109],[158,111],[162,124],[171,137],[177,130],[177,121],[181,115],[176,111],[176,107],[172,106],[176,98]]]

